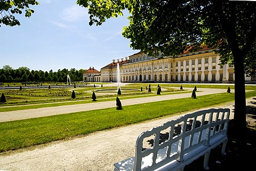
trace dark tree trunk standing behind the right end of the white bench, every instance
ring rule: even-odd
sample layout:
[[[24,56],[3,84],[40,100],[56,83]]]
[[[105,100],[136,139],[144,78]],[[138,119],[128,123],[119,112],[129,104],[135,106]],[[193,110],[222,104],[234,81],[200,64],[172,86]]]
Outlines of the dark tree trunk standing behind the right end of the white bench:
[[[235,64],[235,113],[234,122],[237,137],[244,140],[246,131],[246,99],[245,99],[245,76],[244,56],[233,53]]]

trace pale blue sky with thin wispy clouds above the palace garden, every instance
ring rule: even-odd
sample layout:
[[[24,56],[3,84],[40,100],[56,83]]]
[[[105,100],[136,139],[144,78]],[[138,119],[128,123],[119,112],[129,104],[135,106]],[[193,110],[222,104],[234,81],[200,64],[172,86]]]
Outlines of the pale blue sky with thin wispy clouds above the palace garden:
[[[139,50],[122,36],[129,26],[127,13],[110,18],[101,26],[89,26],[89,14],[76,0],[38,0],[30,6],[35,13],[15,15],[20,26],[0,27],[0,68],[28,67],[31,70],[58,71],[64,68],[100,68]]]

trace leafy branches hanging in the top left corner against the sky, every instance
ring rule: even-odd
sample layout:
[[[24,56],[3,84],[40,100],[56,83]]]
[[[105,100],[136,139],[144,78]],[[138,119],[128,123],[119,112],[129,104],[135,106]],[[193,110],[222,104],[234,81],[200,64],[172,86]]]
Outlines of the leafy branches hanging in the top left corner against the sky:
[[[22,14],[25,11],[25,17],[30,17],[34,13],[33,9],[30,9],[30,5],[39,5],[35,0],[14,0],[14,1],[0,1],[0,27],[1,24],[6,26],[20,26],[20,22],[15,18],[15,14]]]

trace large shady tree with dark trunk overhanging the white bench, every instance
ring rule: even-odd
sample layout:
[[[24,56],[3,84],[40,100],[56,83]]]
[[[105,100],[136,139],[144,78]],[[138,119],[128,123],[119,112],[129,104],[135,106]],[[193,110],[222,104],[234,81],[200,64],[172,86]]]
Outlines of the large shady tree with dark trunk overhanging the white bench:
[[[134,50],[162,58],[177,56],[207,45],[220,54],[221,64],[234,63],[235,113],[237,136],[246,129],[245,74],[256,70],[256,2],[228,0],[194,1],[99,1],[78,0],[88,8],[89,25],[101,25],[106,19],[130,13],[130,25],[123,36]]]

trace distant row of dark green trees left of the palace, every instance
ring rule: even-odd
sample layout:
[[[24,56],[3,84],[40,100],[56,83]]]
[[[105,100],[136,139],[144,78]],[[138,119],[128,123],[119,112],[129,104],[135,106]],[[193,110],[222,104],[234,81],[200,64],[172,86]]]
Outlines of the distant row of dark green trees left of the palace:
[[[67,75],[69,75],[71,82],[80,82],[83,80],[83,69],[70,70],[64,68],[53,72],[52,70],[31,70],[27,67],[20,67],[13,69],[9,65],[3,66],[0,69],[0,82],[1,83],[15,83],[15,82],[67,82]]]

